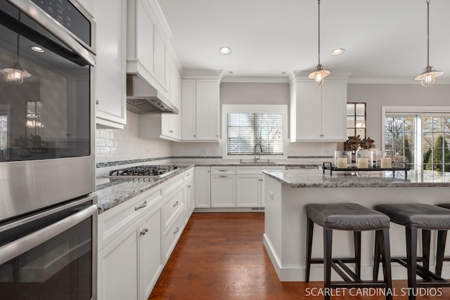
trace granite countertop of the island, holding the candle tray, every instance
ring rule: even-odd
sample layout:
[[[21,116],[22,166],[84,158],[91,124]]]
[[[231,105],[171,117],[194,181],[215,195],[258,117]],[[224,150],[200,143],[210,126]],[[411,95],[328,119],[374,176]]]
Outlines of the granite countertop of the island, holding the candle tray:
[[[406,179],[404,171],[360,171],[333,172],[313,169],[292,169],[287,171],[264,171],[264,174],[275,178],[291,188],[392,188],[392,187],[450,187],[450,177],[435,174],[435,176],[420,176],[408,172]],[[440,175],[440,176],[439,176]]]

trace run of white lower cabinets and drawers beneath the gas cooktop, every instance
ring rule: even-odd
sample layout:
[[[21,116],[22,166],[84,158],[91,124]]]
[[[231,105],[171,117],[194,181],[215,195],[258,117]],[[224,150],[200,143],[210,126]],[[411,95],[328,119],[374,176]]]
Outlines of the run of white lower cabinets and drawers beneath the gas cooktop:
[[[188,221],[185,172],[98,215],[98,300],[148,299]]]

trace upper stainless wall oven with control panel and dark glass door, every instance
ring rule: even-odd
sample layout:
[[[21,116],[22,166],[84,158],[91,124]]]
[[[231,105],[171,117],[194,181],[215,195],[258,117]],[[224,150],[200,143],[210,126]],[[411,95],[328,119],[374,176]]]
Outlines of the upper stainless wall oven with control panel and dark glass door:
[[[0,0],[0,221],[95,190],[94,22]]]

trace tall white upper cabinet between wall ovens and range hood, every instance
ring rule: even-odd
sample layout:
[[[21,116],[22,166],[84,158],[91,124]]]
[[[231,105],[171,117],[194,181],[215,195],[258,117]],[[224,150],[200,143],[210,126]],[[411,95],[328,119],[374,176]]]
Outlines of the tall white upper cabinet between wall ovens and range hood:
[[[127,124],[127,1],[96,0],[96,123],[123,129]],[[105,11],[108,7],[108,11]]]

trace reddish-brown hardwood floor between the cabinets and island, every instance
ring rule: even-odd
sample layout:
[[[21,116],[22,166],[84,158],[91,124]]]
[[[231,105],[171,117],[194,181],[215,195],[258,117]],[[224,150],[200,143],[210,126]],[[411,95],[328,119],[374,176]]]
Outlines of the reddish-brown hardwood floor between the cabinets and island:
[[[148,299],[323,299],[317,295],[323,282],[278,280],[262,243],[263,233],[264,213],[194,213]],[[405,280],[394,280],[394,300],[407,299],[405,288]],[[436,292],[442,295],[417,299],[450,299],[450,288]],[[341,291],[331,299],[385,297],[349,291],[344,296]]]

